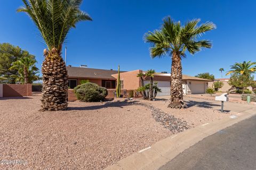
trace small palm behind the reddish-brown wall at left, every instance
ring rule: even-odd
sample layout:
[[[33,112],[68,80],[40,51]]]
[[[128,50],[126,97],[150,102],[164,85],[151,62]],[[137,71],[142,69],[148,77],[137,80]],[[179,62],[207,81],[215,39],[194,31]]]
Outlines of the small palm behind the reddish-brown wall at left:
[[[17,70],[18,75],[12,75],[12,77],[24,84],[28,84],[31,83],[31,81],[29,81],[32,76],[31,74],[38,73],[38,69],[35,65],[36,63],[36,60],[31,57],[22,57],[20,60],[13,62],[9,70]]]

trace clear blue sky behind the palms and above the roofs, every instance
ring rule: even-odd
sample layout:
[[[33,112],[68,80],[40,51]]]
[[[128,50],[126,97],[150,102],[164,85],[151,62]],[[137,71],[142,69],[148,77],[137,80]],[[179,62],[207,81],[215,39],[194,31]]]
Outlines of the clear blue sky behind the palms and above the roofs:
[[[11,43],[36,56],[37,66],[43,61],[42,38],[33,22],[16,10],[21,0],[2,1],[0,5],[0,43]],[[256,2],[228,0],[84,0],[81,9],[93,22],[82,22],[67,38],[67,64],[86,64],[98,69],[148,70],[170,72],[171,58],[151,59],[150,45],[143,41],[147,31],[158,29],[162,19],[170,15],[182,23],[200,18],[212,21],[217,29],[204,39],[213,41],[212,49],[204,49],[182,60],[183,74],[210,72],[220,78],[235,62],[255,61]]]

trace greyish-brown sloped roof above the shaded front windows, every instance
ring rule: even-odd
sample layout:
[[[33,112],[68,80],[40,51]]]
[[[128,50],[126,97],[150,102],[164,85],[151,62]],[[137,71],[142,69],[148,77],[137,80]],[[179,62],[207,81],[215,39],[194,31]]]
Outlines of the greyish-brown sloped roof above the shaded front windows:
[[[73,78],[92,78],[92,79],[112,79],[116,80],[112,74],[117,74],[117,70],[91,69],[85,67],[67,66],[68,77]],[[120,71],[123,73],[124,71]]]

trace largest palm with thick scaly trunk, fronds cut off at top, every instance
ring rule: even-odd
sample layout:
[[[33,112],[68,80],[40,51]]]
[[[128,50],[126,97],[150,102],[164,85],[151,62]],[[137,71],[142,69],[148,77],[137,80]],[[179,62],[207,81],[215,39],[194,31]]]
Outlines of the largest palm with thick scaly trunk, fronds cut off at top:
[[[68,32],[79,21],[91,21],[79,9],[82,0],[22,0],[27,13],[41,32],[48,49],[42,64],[43,90],[41,111],[66,110],[68,107],[68,74],[61,57],[62,44]]]

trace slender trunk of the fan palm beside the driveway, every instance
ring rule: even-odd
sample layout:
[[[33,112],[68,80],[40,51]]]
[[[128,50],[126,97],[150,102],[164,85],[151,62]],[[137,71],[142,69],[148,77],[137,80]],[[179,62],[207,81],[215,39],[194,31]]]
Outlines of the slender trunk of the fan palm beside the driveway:
[[[180,53],[173,52],[172,54],[172,69],[171,69],[171,98],[168,107],[185,108],[183,102],[182,90],[182,66]]]

